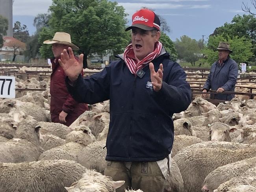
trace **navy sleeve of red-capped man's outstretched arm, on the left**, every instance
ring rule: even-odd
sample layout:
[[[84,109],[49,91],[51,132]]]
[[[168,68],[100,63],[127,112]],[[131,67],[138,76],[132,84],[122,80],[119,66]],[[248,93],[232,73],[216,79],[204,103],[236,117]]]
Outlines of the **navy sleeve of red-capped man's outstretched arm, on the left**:
[[[69,78],[66,78],[67,89],[70,95],[78,103],[95,104],[109,100],[110,65],[101,72],[82,78],[80,74],[76,82],[70,85]]]

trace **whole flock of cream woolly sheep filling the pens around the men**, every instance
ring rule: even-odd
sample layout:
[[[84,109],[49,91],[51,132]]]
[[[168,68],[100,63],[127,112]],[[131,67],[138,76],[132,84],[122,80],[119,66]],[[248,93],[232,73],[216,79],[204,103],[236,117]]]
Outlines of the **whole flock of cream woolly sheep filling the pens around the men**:
[[[70,127],[52,123],[49,85],[16,78],[16,87],[46,90],[0,99],[0,192],[115,192],[124,181],[102,175],[109,102],[90,105]],[[173,119],[164,192],[256,192],[256,100],[216,107],[198,96]]]

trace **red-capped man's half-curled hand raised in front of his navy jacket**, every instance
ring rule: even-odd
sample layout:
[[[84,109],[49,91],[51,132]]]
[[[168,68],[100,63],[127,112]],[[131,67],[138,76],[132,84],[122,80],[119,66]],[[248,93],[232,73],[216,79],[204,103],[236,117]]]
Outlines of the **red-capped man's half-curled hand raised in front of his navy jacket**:
[[[159,69],[155,72],[153,63],[149,63],[150,78],[154,91],[158,92],[162,88],[163,82],[163,64],[160,64]]]

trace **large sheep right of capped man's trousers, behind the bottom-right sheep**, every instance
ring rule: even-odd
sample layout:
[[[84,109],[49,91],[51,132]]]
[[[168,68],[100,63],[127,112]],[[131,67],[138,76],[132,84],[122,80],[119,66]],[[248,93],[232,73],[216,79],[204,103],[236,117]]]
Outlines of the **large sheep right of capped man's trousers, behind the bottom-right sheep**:
[[[191,145],[173,159],[180,168],[185,191],[200,191],[205,177],[219,166],[256,156],[256,146],[231,142],[204,142]]]

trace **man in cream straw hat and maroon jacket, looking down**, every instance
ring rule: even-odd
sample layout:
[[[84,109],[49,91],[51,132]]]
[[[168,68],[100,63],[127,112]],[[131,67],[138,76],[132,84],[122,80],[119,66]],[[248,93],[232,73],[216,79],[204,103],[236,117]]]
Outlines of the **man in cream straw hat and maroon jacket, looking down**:
[[[72,47],[74,50],[79,50],[79,48],[72,44],[69,33],[64,32],[56,32],[52,40],[46,40],[43,43],[51,44],[52,52],[54,54],[54,58],[51,59],[51,119],[54,123],[61,123],[66,126],[70,126],[72,122],[74,122],[84,111],[88,110],[88,106],[85,103],[76,102],[69,94],[65,85],[66,75],[63,68],[59,65],[58,59],[64,49]],[[81,75],[83,76],[83,70]]]

